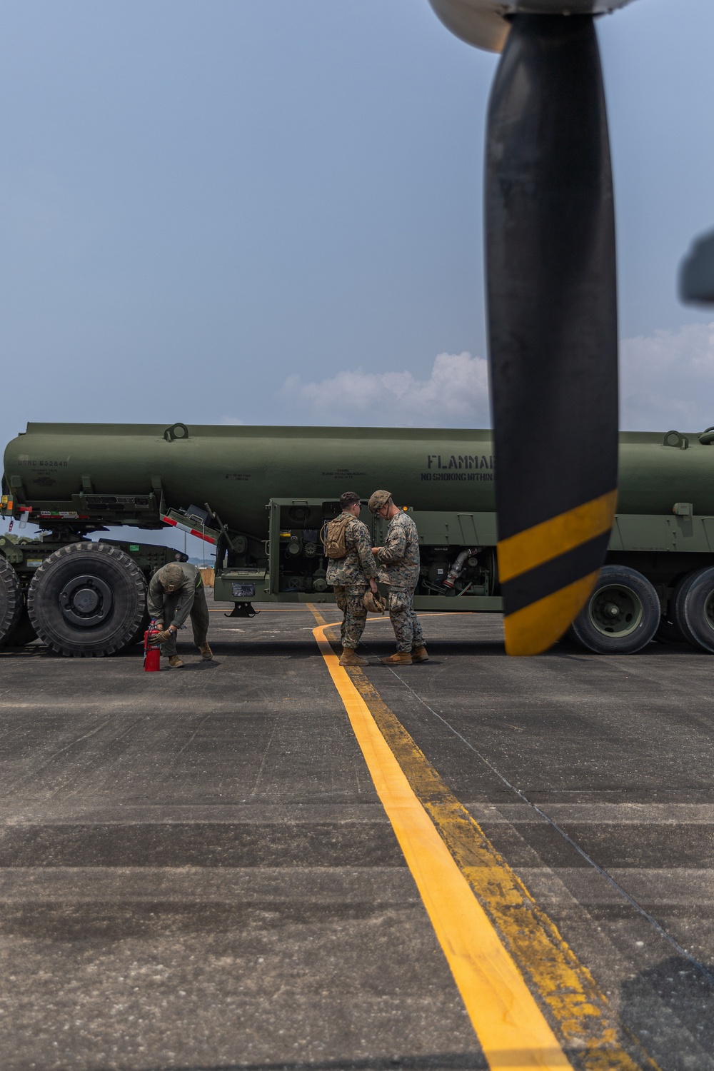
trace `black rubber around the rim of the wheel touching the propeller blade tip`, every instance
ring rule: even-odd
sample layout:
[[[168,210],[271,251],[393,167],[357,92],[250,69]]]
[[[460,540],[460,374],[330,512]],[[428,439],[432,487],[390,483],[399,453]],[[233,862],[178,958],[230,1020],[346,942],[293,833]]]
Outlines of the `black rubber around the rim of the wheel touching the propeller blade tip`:
[[[632,592],[640,606],[640,620],[625,635],[607,635],[594,623],[591,609],[606,588],[623,588]],[[571,625],[571,635],[586,650],[595,654],[634,654],[647,647],[659,628],[662,607],[654,587],[645,576],[627,565],[605,565],[586,606]]]

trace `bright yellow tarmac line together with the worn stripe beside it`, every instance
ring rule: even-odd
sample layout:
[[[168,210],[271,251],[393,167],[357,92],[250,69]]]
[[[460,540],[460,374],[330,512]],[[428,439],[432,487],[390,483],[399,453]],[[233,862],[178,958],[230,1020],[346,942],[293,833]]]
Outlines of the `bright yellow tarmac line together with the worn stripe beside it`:
[[[583,1071],[656,1071],[637,1039],[636,1060],[622,1047],[588,969],[365,675],[339,665],[330,628],[313,633],[489,1066],[568,1068],[571,1052]]]

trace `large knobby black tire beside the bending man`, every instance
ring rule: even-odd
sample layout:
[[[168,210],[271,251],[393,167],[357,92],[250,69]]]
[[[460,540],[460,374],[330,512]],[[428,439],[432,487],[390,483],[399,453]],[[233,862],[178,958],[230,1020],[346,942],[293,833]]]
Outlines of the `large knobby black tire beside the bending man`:
[[[27,597],[40,639],[59,654],[113,654],[137,634],[147,601],[143,573],[106,543],[71,543],[37,568]]]

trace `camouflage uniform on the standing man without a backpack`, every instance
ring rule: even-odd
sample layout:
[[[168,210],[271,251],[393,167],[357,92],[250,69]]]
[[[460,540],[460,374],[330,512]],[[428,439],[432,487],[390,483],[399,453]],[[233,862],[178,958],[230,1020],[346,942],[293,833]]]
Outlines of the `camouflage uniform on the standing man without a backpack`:
[[[379,579],[390,586],[390,620],[397,651],[423,647],[424,633],[413,605],[421,565],[419,533],[408,513],[397,513],[390,521],[377,561]]]

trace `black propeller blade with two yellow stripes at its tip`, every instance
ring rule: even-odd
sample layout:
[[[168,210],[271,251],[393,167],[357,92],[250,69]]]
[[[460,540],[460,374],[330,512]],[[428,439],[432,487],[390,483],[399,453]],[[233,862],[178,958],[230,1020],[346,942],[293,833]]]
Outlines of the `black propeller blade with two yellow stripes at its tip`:
[[[486,258],[510,654],[584,605],[617,498],[612,177],[592,16],[516,15],[493,84]]]

